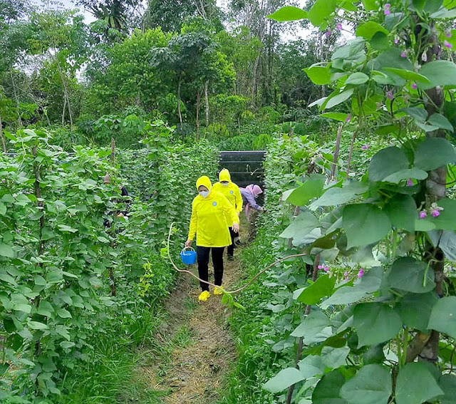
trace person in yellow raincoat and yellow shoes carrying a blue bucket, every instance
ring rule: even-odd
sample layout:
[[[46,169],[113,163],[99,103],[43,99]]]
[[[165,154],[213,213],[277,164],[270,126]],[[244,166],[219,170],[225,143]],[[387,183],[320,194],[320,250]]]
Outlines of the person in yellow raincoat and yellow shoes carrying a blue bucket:
[[[223,251],[231,244],[227,217],[236,232],[239,232],[239,217],[227,198],[212,188],[209,177],[204,175],[198,178],[197,190],[198,195],[192,202],[190,230],[185,247],[192,245],[196,234],[198,273],[199,279],[202,279],[199,282],[202,292],[198,299],[206,301],[210,296],[209,285],[204,282],[209,279],[209,252],[212,252],[212,264],[214,264],[214,283],[222,286]],[[222,294],[222,291],[216,287],[214,294]]]

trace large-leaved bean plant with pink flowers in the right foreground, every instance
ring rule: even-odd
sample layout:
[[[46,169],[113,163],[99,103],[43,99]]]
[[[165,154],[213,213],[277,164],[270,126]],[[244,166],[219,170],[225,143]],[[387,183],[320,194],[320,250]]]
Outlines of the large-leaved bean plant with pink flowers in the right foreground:
[[[455,7],[316,0],[270,16],[309,19],[327,36],[354,26],[331,61],[305,69],[331,90],[314,105],[351,125],[352,143],[361,133],[397,142],[359,180],[346,179],[350,153],[348,169],[308,175],[283,196],[296,209],[280,237],[312,263],[294,291],[296,363],[264,385],[286,403],[454,402]]]

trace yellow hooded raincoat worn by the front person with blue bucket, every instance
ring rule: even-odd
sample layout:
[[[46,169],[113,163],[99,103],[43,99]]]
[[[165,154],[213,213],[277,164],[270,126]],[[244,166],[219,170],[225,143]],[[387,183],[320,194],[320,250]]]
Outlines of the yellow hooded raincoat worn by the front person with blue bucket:
[[[237,212],[226,197],[214,190],[209,177],[199,177],[197,189],[201,185],[210,192],[205,198],[197,195],[192,202],[188,239],[194,239],[196,234],[199,247],[227,247],[231,244],[228,227],[239,223]]]

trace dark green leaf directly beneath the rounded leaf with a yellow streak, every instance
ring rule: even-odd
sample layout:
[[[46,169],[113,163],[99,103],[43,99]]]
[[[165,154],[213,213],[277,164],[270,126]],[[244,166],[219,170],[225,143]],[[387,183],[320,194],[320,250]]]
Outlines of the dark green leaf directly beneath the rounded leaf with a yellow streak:
[[[398,304],[398,312],[404,325],[428,333],[427,323],[437,300],[434,291],[427,294],[406,294]]]

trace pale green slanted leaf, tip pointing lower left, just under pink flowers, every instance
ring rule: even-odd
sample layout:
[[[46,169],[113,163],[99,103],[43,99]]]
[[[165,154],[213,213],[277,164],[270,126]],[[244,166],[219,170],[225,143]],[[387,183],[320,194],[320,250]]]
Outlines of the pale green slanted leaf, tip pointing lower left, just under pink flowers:
[[[382,277],[383,270],[381,267],[375,267],[367,271],[354,286],[342,286],[337,289],[333,296],[322,302],[321,308],[325,310],[331,305],[352,304],[365,299],[380,289]]]

